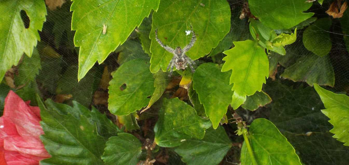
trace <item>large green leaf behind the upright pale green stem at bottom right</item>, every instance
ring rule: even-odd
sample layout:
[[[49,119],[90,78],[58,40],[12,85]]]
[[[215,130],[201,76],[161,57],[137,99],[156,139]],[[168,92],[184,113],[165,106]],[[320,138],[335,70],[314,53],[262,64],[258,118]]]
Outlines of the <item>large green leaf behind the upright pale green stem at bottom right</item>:
[[[269,120],[255,119],[250,125],[248,137],[257,164],[301,165],[295,149]],[[240,160],[242,165],[252,163],[245,142]]]

